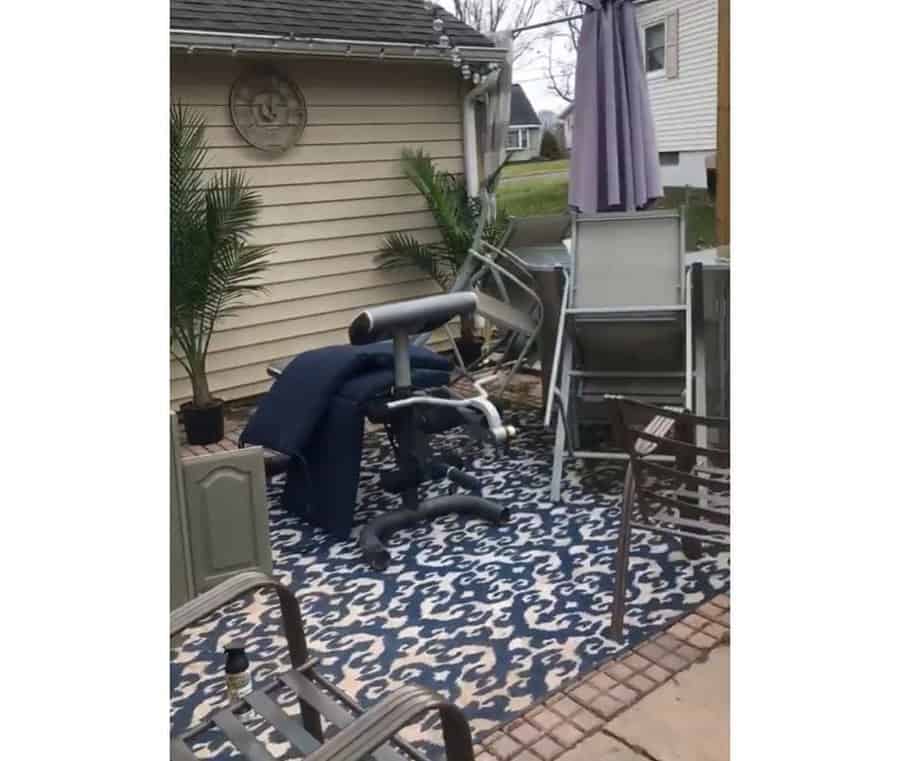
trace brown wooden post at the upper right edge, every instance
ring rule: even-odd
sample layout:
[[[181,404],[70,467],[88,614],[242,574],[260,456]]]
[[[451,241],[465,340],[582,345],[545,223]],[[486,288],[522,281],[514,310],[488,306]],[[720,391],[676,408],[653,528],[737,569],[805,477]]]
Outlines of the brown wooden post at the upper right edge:
[[[731,243],[731,0],[719,0],[716,93],[716,242]]]

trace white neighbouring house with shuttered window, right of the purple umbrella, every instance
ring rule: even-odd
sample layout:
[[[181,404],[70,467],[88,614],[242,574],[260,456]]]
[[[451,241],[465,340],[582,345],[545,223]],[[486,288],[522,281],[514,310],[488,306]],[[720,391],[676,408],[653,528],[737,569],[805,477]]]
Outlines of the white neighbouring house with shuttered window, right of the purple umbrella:
[[[716,150],[717,0],[635,6],[663,185],[705,187]]]

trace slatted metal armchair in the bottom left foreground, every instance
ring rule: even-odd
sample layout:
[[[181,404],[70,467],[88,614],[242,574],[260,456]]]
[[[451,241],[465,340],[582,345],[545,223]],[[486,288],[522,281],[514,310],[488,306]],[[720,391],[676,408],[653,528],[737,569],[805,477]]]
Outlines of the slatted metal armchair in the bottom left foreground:
[[[368,711],[336,685],[316,671],[316,659],[306,647],[300,606],[291,591],[270,576],[250,572],[235,576],[173,611],[170,635],[180,634],[191,624],[256,589],[270,588],[278,595],[281,620],[287,637],[291,669],[274,676],[236,705],[220,708],[211,717],[187,732],[171,738],[172,761],[196,761],[192,744],[204,737],[224,735],[247,761],[274,761],[265,743],[237,714],[252,708],[274,726],[290,744],[293,753],[280,757],[308,761],[425,761],[409,744],[396,738],[407,724],[430,711],[438,711],[448,761],[473,761],[472,735],[462,711],[439,695],[421,687],[403,687],[382,698]],[[223,671],[224,677],[224,671]],[[278,693],[291,695],[299,703],[299,717],[285,712]],[[273,695],[276,696],[273,698]],[[326,741],[322,732],[324,717],[339,731]],[[255,726],[255,725],[254,725]],[[279,740],[280,744],[283,741]],[[400,752],[402,750],[402,753]],[[407,754],[407,755],[403,755]]]

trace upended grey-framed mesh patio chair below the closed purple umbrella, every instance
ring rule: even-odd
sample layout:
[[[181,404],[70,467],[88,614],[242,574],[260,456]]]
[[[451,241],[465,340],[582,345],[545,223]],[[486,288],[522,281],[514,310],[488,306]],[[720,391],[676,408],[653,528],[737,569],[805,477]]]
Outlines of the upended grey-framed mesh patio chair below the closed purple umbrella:
[[[690,406],[690,295],[677,211],[578,215],[572,236],[544,424],[556,417],[551,496],[567,456],[627,459],[583,445],[582,426],[609,424],[605,397]]]

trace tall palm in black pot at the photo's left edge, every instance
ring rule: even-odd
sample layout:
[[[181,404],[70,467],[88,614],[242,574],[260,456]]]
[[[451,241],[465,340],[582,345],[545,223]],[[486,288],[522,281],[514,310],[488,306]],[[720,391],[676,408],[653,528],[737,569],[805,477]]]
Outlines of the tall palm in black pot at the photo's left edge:
[[[243,173],[203,176],[207,154],[203,118],[180,104],[170,114],[169,278],[173,358],[191,381],[181,407],[188,442],[211,444],[224,435],[221,399],[209,390],[206,355],[218,321],[241,299],[262,290],[269,249],[248,242],[259,194]]]

